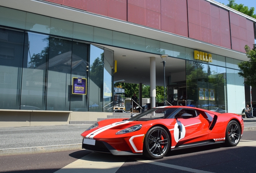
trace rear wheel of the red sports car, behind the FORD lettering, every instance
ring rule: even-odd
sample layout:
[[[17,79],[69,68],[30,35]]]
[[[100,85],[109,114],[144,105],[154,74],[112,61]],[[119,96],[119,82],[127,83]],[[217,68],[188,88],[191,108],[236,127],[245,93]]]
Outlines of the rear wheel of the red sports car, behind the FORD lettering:
[[[228,123],[226,129],[225,145],[228,147],[236,146],[241,139],[241,128],[239,124],[232,120]]]

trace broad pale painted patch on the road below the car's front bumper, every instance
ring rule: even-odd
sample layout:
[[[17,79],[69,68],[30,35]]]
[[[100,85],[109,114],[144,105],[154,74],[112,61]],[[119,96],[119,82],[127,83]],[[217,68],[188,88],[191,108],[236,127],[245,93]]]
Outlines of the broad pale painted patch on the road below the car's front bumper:
[[[92,152],[55,173],[115,173],[125,160],[118,156],[112,157],[110,154]]]

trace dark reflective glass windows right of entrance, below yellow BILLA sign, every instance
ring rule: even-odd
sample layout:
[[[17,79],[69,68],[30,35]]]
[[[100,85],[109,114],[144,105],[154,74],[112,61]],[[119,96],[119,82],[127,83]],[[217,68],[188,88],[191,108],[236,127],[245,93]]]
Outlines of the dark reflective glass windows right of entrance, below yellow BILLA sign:
[[[200,62],[186,61],[187,99],[191,106],[227,112],[226,69]]]

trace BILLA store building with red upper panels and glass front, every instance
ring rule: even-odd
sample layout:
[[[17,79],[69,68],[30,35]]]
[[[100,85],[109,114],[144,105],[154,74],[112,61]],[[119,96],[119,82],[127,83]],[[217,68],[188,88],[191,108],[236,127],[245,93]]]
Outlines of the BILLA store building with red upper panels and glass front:
[[[119,80],[241,113],[255,22],[213,0],[1,0],[0,126],[105,118]]]

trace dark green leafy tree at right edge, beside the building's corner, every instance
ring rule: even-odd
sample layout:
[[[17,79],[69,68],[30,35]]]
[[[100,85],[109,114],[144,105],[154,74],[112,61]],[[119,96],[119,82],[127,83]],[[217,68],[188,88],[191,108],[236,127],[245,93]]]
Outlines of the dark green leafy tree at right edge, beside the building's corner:
[[[242,70],[238,72],[238,75],[246,78],[244,83],[256,87],[256,45],[253,45],[252,50],[246,45],[245,50],[249,60],[238,63],[238,67]]]

